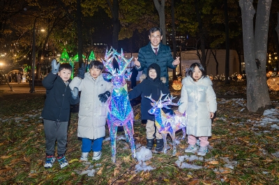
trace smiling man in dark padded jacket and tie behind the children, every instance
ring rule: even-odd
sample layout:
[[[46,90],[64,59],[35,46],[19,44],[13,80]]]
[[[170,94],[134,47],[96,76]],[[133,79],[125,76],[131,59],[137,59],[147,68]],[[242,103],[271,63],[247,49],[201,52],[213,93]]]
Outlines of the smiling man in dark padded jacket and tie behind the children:
[[[163,38],[162,30],[158,27],[153,27],[149,30],[149,44],[142,47],[139,51],[138,58],[135,58],[135,66],[142,74],[147,74],[147,67],[152,63],[157,63],[160,66],[160,77],[165,77],[165,85],[169,87],[169,75],[167,67],[175,69],[180,63],[179,57],[172,58],[172,52],[167,45],[163,45],[161,40]]]

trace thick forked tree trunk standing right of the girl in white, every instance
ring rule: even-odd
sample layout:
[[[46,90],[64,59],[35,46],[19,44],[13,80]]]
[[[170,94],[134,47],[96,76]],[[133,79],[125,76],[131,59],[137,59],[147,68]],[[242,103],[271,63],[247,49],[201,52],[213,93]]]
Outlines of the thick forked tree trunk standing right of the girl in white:
[[[266,84],[266,50],[271,0],[258,1],[255,35],[253,28],[255,9],[252,0],[240,0],[239,6],[242,15],[243,49],[247,75],[247,108],[248,111],[256,112],[271,106]],[[257,66],[256,60],[260,65]]]

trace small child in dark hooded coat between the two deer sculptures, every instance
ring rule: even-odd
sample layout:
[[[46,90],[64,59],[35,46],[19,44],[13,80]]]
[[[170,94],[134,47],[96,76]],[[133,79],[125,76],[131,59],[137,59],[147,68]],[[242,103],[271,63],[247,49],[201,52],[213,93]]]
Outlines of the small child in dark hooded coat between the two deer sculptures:
[[[151,100],[147,99],[146,96],[152,95],[152,99],[158,101],[160,93],[169,94],[169,89],[165,84],[160,81],[160,66],[156,63],[149,65],[147,68],[147,77],[131,90],[128,95],[129,99],[134,99],[136,97],[142,96],[141,102],[141,112],[142,120],[147,120],[146,122],[146,147],[152,150],[154,143],[154,135],[156,135],[156,151],[161,152],[164,148],[163,137],[159,133],[155,126],[155,115],[151,115],[148,111],[152,108]],[[165,97],[162,97],[162,99]]]

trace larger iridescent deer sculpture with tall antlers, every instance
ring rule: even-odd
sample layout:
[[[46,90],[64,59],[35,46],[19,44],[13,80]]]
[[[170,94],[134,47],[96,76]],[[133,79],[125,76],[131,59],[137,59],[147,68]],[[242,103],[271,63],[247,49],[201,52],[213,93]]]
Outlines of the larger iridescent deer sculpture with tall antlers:
[[[112,51],[111,51],[112,50]],[[119,70],[114,69],[112,61],[116,59],[119,64]],[[105,61],[103,64],[106,67],[107,72],[110,74],[103,74],[105,79],[112,80],[112,95],[109,100],[109,112],[107,113],[107,126],[110,131],[110,140],[112,144],[112,162],[116,161],[116,134],[117,127],[122,127],[125,131],[126,140],[130,142],[132,156],[135,159],[135,141],[133,138],[133,109],[128,99],[128,89],[126,80],[130,79],[131,73],[125,73],[126,67],[129,65],[133,58],[127,60],[124,58],[123,51],[121,54],[116,50],[110,49],[106,51]]]

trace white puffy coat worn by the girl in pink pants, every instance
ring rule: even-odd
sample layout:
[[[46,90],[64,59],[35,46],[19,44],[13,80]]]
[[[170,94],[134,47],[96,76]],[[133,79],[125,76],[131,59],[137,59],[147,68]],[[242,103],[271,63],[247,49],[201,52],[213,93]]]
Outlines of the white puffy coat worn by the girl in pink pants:
[[[195,82],[191,77],[182,80],[179,112],[187,115],[186,132],[196,137],[211,136],[210,112],[217,110],[216,95],[208,77]]]

